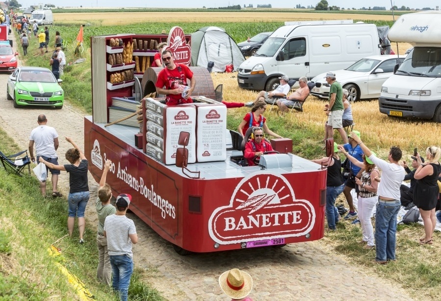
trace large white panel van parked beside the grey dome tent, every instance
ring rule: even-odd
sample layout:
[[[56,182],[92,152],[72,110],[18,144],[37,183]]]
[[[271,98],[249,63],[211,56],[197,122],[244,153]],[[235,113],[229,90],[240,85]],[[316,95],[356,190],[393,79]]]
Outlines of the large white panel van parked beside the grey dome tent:
[[[278,77],[311,80],[320,73],[379,55],[375,24],[352,20],[285,22],[239,67],[239,87],[271,91]]]

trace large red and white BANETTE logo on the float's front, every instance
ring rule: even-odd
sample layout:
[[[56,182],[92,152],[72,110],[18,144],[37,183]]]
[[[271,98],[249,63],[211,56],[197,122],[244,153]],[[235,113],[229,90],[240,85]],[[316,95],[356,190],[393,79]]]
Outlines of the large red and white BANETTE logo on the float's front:
[[[311,232],[315,220],[312,204],[307,200],[296,200],[294,190],[285,177],[263,171],[242,179],[229,206],[213,211],[208,221],[208,232],[219,244],[242,245],[270,240],[262,243],[268,245],[272,239]]]

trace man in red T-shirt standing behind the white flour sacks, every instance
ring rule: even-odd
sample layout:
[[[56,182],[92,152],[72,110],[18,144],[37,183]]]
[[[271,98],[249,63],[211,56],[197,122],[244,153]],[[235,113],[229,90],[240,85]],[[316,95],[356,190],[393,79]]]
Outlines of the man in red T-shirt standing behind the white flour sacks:
[[[173,62],[173,54],[169,49],[162,53],[162,61],[166,68],[162,69],[156,80],[156,93],[166,95],[166,104],[176,106],[183,103],[192,103],[190,96],[195,90],[196,79],[193,72],[183,64]],[[190,79],[190,88],[187,89],[187,78]],[[165,88],[165,89],[164,89]]]

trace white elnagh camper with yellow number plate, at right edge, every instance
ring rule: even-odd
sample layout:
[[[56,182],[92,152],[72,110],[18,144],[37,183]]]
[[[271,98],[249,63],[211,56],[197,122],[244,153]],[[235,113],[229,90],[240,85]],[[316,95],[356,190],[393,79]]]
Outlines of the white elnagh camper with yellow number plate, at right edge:
[[[441,11],[405,14],[393,24],[391,42],[414,46],[381,87],[380,112],[441,122]]]

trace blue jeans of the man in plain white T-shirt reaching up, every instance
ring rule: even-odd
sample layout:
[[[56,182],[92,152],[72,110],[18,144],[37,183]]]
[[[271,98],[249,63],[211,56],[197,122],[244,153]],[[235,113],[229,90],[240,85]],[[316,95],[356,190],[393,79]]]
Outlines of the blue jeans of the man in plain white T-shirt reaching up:
[[[384,202],[378,199],[375,212],[375,260],[395,260],[396,215],[400,200]]]

